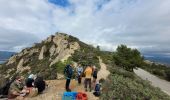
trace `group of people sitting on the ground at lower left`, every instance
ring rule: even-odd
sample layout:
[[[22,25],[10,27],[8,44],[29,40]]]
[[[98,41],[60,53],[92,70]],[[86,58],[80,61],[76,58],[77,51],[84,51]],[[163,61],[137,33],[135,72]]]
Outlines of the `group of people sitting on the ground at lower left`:
[[[37,77],[37,75],[30,74],[28,78],[22,76],[16,76],[15,79],[10,83],[8,82],[4,86],[1,92],[8,100],[23,100],[24,97],[34,97],[45,90],[46,83],[42,77]]]

